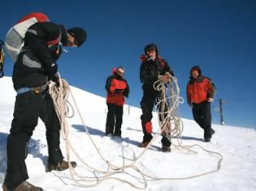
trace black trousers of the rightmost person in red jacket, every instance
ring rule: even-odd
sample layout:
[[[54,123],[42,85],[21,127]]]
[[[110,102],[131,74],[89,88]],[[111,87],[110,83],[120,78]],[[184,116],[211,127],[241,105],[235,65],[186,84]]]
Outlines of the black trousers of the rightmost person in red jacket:
[[[200,104],[193,104],[193,119],[204,129],[204,138],[211,138],[211,114],[210,102],[205,101]]]

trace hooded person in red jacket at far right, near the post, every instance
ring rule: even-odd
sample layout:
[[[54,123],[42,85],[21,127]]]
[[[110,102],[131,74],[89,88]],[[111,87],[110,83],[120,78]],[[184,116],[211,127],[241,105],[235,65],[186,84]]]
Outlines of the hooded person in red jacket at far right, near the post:
[[[202,76],[199,66],[193,66],[190,70],[190,78],[187,85],[187,101],[192,108],[193,118],[202,129],[204,138],[210,142],[211,135],[215,133],[211,129],[210,103],[214,101],[215,85],[207,77]]]

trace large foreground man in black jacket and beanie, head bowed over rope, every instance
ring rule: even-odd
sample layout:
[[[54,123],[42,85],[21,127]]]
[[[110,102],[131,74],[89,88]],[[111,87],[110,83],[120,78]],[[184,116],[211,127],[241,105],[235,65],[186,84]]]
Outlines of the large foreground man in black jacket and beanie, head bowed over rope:
[[[82,28],[66,30],[62,25],[51,22],[35,23],[25,34],[24,48],[15,62],[12,81],[17,96],[14,118],[7,138],[7,175],[2,188],[6,190],[42,190],[26,180],[28,172],[25,164],[26,144],[37,126],[38,117],[46,125],[48,144],[48,171],[65,170],[59,148],[59,119],[53,101],[48,93],[48,82],[58,84],[56,61],[63,46],[79,47],[86,40]],[[75,167],[76,163],[72,162]]]

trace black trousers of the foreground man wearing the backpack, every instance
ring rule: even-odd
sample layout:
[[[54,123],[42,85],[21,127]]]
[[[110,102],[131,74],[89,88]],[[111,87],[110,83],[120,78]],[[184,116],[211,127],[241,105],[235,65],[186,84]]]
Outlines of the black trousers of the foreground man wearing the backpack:
[[[36,94],[28,91],[16,96],[14,118],[7,138],[7,175],[5,185],[15,189],[28,179],[26,168],[26,144],[37,126],[38,117],[46,125],[46,139],[49,152],[49,163],[61,163],[63,155],[59,148],[59,119],[48,92]]]

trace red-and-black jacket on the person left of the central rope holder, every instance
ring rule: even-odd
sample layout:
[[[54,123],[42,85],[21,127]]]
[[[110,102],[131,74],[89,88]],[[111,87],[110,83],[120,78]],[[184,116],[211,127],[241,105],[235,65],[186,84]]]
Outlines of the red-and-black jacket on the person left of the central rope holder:
[[[116,104],[118,106],[123,106],[125,103],[124,96],[128,97],[129,87],[125,79],[119,78],[115,74],[115,69],[113,70],[113,75],[106,79],[106,103]]]

